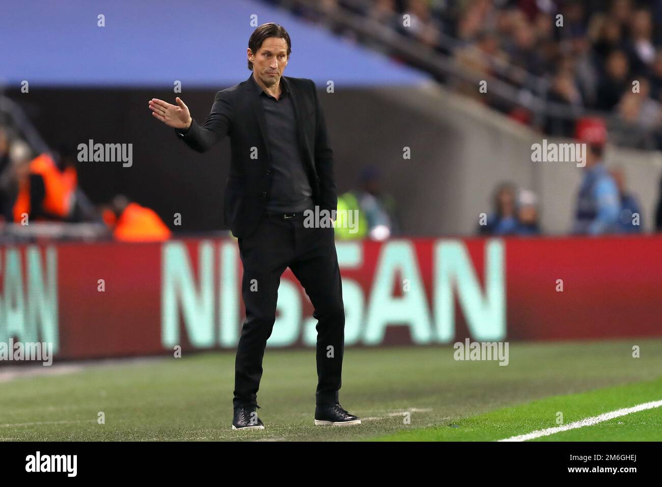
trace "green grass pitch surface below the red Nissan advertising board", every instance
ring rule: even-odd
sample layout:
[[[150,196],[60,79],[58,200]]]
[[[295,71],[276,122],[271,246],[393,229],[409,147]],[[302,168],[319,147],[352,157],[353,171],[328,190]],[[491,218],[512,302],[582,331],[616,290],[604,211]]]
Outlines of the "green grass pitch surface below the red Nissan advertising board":
[[[263,431],[230,427],[234,352],[3,370],[0,441],[493,441],[555,427],[559,412],[570,423],[662,400],[662,339],[511,342],[508,366],[455,361],[450,346],[346,349],[340,401],[363,419],[351,427],[313,425],[312,349],[267,349]],[[662,407],[533,441],[574,440],[661,441]]]

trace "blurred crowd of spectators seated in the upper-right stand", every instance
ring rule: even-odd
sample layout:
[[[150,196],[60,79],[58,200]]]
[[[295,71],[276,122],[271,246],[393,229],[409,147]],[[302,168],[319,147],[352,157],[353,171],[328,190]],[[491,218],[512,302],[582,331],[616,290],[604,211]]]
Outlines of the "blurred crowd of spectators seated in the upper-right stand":
[[[271,3],[288,4],[287,0]],[[477,80],[498,80],[516,100],[477,83],[435,75],[549,135],[572,136],[577,115],[610,114],[618,144],[662,148],[662,0],[323,0],[453,60]],[[338,22],[297,4],[299,15],[392,54]],[[406,18],[406,25],[404,15]],[[560,17],[559,17],[560,16]],[[399,56],[401,57],[401,56]],[[404,62],[417,64],[412,59]],[[418,66],[424,67],[424,66]],[[633,81],[637,81],[636,87]],[[540,120],[524,101],[558,108]],[[553,113],[551,115],[550,113]],[[536,118],[538,117],[538,118]]]

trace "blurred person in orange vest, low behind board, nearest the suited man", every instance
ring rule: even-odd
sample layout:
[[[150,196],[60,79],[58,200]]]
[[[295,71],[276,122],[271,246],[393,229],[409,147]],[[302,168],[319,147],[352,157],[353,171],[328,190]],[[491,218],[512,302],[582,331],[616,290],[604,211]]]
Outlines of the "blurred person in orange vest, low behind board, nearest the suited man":
[[[103,221],[117,241],[160,242],[172,235],[156,211],[130,201],[124,195],[116,195],[101,210]]]

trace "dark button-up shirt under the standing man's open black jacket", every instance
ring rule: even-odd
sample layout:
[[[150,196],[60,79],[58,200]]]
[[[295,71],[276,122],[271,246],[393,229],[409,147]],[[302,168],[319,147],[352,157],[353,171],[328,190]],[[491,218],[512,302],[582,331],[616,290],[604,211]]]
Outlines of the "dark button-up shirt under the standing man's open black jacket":
[[[312,189],[299,154],[297,119],[285,78],[281,78],[279,99],[268,95],[253,76],[267,123],[267,143],[271,151],[271,191],[267,209],[293,213],[312,208]]]

